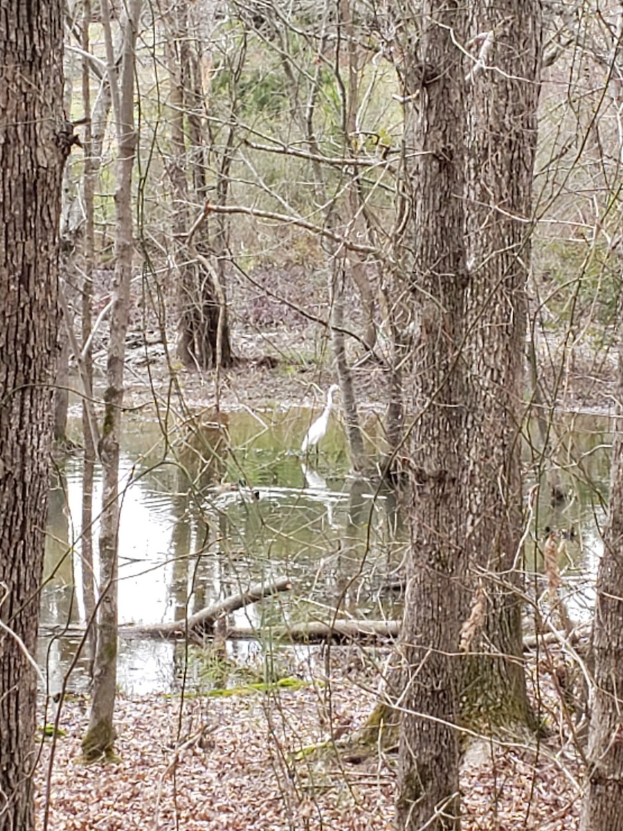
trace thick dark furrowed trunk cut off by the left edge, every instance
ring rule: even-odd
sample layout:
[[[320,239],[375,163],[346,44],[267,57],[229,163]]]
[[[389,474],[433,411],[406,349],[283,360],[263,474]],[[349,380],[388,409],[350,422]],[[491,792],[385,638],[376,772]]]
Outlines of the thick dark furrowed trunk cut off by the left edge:
[[[25,651],[37,644],[71,146],[61,2],[2,2],[0,54],[0,829],[29,831],[37,687]]]

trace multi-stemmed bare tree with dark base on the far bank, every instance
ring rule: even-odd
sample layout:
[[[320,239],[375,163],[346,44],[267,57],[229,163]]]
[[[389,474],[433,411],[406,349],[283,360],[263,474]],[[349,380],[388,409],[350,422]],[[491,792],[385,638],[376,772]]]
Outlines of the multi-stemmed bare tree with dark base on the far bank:
[[[169,36],[172,152],[166,167],[175,200],[178,353],[184,366],[199,370],[226,368],[233,360],[225,294],[228,219],[218,216],[211,236],[206,222],[189,233],[208,201],[208,155],[218,160],[216,201],[226,204],[228,197],[235,117],[223,125],[224,145],[206,119],[217,7],[218,2],[173,0],[164,19]]]

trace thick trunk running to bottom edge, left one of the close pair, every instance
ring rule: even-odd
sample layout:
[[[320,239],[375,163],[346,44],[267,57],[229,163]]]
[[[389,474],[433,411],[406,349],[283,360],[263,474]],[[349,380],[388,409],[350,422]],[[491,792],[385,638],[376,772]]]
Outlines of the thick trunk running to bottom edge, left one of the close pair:
[[[405,176],[413,199],[415,332],[410,527],[401,636],[400,829],[458,829],[459,591],[464,583],[468,397],[460,357],[464,254],[464,35],[458,2],[424,2],[417,54],[405,57]],[[412,42],[416,42],[415,33]],[[413,47],[411,47],[413,48]],[[417,97],[414,106],[411,102]],[[415,154],[413,151],[421,151]]]

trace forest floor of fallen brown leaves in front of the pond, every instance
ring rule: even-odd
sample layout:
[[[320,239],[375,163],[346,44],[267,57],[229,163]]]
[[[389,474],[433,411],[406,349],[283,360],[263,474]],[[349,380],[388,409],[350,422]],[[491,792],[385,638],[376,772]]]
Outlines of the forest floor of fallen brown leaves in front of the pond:
[[[80,745],[88,701],[72,696],[61,706],[65,735],[42,739],[38,831],[390,831],[395,752],[340,746],[364,724],[373,691],[340,671],[308,681],[231,697],[119,696],[119,760],[90,766]],[[544,720],[546,740],[472,745],[461,774],[464,831],[577,828],[581,765],[555,710]],[[337,752],[303,750],[334,741]]]

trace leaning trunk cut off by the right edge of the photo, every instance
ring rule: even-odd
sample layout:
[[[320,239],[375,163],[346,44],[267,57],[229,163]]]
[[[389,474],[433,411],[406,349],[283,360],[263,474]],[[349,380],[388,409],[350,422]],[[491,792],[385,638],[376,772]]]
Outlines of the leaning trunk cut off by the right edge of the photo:
[[[581,831],[623,829],[623,296],[619,298],[619,394],[604,553],[592,632],[595,697],[589,726]]]

